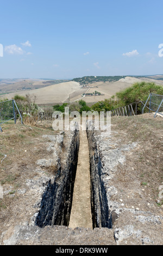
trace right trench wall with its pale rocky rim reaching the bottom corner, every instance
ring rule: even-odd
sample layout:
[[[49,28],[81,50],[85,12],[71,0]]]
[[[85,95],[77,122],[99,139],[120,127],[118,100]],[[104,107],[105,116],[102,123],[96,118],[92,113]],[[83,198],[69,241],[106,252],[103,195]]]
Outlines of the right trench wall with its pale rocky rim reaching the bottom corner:
[[[87,137],[90,145],[95,226],[104,227],[103,220],[109,221],[108,227],[114,231],[117,245],[161,245],[161,209],[150,206],[140,190],[139,181],[133,180],[132,171],[128,172],[127,169],[126,162],[133,159],[139,143],[124,142],[119,137],[117,139],[114,129],[111,133],[87,131]],[[129,183],[126,183],[126,179]],[[133,205],[139,207],[131,205],[130,198],[133,198]],[[145,210],[147,203],[149,210]]]

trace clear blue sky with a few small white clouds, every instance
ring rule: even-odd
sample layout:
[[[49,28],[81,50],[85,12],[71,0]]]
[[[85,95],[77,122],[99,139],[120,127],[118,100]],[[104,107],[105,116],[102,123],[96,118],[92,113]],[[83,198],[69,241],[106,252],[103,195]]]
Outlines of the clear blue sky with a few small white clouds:
[[[162,0],[0,4],[0,78],[163,74]]]

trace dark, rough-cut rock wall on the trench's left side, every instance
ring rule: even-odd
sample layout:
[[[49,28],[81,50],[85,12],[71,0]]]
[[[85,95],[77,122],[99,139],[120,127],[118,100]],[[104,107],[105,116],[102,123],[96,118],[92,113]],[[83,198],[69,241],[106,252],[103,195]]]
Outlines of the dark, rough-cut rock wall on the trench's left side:
[[[68,225],[70,220],[73,184],[78,161],[79,131],[75,130],[66,134],[64,148],[60,155],[61,165],[58,166],[57,175],[53,182],[49,180],[42,197],[35,221],[39,227]]]

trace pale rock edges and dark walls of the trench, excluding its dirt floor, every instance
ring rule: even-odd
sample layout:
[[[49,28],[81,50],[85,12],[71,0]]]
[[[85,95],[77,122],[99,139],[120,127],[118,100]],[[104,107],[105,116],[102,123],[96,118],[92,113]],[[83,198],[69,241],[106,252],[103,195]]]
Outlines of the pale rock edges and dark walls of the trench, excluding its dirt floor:
[[[27,185],[39,187],[33,204],[34,214],[28,224],[15,225],[1,236],[1,245],[160,245],[161,216],[149,211],[122,207],[111,200],[117,193],[114,184],[116,167],[125,162],[125,153],[136,143],[112,148],[112,136],[107,131],[86,130],[90,160],[90,204],[92,228],[68,227],[71,216],[73,188],[76,180],[79,130],[63,131],[45,136],[51,142],[47,151],[52,159],[40,159],[38,168],[51,168],[51,175],[27,180]],[[41,188],[40,188],[41,187]],[[128,223],[128,219],[130,222]]]

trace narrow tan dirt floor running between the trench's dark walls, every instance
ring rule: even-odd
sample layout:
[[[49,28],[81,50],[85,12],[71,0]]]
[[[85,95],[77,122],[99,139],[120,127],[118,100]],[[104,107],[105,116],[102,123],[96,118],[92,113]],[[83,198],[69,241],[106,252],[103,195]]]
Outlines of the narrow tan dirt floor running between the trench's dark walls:
[[[86,131],[82,130],[69,227],[92,229],[89,145]]]

